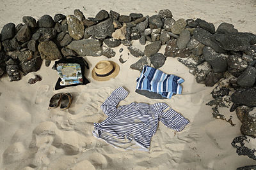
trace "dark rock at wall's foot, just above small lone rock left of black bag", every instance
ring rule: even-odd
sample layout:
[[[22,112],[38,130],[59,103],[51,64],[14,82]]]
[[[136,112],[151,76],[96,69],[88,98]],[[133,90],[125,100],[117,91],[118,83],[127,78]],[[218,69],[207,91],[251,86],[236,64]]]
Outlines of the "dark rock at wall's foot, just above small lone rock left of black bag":
[[[25,76],[28,73],[38,71],[42,65],[42,59],[40,57],[35,57],[26,62],[20,62],[20,71],[22,71]]]

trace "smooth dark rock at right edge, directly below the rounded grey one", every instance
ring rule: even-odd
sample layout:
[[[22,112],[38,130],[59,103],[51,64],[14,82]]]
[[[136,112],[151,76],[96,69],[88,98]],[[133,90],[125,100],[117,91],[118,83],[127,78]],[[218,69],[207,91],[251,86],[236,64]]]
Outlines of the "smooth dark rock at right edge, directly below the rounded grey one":
[[[232,94],[232,102],[249,107],[256,106],[256,87],[250,89],[238,89]]]

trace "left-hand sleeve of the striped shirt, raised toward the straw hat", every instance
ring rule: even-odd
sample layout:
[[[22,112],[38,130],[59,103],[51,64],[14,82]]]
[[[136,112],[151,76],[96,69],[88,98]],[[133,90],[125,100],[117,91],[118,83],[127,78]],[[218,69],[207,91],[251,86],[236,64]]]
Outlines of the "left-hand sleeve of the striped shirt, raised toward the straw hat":
[[[100,108],[102,111],[109,116],[113,111],[116,110],[118,103],[120,101],[123,101],[128,96],[127,90],[125,90],[123,87],[118,87],[115,89],[111,95],[102,103]]]

